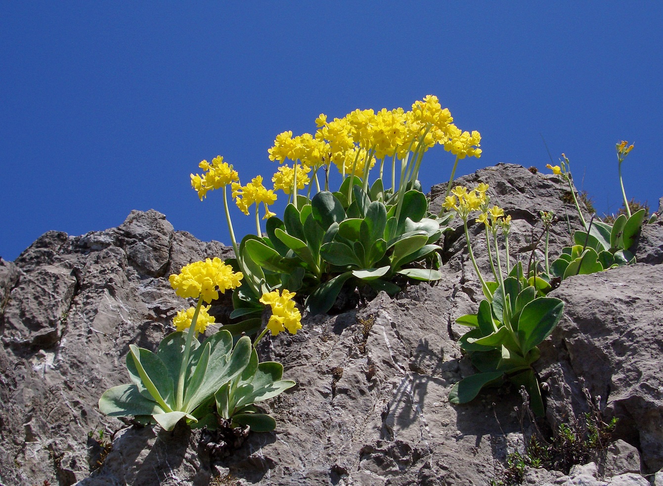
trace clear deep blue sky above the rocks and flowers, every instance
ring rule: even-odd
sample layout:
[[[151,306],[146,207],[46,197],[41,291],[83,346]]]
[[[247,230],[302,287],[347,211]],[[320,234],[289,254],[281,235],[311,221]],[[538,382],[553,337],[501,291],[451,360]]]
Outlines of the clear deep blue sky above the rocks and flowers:
[[[189,186],[221,154],[268,180],[285,130],[319,113],[435,94],[479,160],[544,169],[565,152],[599,213],[663,196],[663,3],[5,2],[0,7],[0,256],[49,229],[79,235],[133,210],[229,243],[220,194]],[[431,151],[424,188],[453,157]],[[235,231],[253,219],[233,213]]]

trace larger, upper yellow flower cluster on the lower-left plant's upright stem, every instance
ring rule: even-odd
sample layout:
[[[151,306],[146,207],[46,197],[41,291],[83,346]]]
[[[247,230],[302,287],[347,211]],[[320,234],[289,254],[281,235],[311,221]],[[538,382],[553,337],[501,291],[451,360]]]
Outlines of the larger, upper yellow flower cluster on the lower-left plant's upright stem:
[[[179,274],[170,275],[170,286],[182,298],[202,298],[211,302],[226,290],[237,288],[243,278],[241,272],[233,272],[220,258],[206,259],[182,267]]]

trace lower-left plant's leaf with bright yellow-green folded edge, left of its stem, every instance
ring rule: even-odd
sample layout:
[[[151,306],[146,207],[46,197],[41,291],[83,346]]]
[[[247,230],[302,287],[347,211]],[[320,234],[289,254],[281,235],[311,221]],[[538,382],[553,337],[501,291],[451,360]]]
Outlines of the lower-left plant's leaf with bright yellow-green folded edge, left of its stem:
[[[172,405],[174,399],[173,380],[170,378],[170,373],[168,373],[164,362],[152,351],[130,344],[129,354],[127,355],[127,371],[129,371],[131,381],[137,386],[141,395],[145,398],[152,398],[164,409]],[[170,410],[166,411],[170,412]]]

